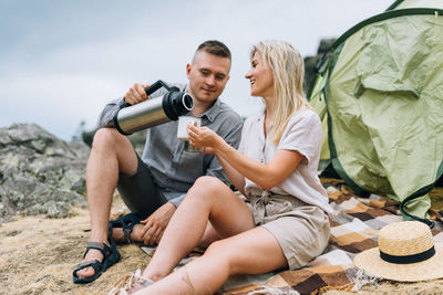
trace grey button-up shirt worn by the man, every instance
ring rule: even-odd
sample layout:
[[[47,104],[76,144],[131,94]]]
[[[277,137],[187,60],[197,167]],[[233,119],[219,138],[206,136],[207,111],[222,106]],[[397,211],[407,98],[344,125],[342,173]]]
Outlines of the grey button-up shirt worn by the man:
[[[186,84],[173,84],[173,86],[177,86],[183,92],[187,88]],[[166,91],[161,88],[150,95],[150,99],[165,93]],[[111,122],[123,104],[123,98],[107,104],[100,115],[99,127],[104,127]],[[238,148],[243,119],[227,104],[218,98],[208,110],[198,117],[202,118],[202,126],[207,126],[230,146]],[[142,160],[151,169],[154,182],[162,189],[166,199],[176,207],[200,176],[214,176],[226,185],[229,183],[220,162],[213,154],[202,155],[184,149],[185,141],[177,139],[177,126],[178,122],[172,120],[147,128],[142,156]]]

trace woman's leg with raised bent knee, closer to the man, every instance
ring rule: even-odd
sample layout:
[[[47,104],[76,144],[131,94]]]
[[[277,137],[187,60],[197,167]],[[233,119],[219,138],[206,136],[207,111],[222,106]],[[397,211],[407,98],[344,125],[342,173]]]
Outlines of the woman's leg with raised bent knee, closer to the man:
[[[208,221],[222,238],[254,228],[246,203],[214,177],[202,177],[171,219],[143,277],[158,281],[200,241]]]

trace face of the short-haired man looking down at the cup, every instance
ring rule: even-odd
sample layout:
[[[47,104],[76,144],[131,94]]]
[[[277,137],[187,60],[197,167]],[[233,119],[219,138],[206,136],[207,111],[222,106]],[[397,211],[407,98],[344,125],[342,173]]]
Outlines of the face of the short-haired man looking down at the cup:
[[[230,60],[205,51],[195,54],[193,63],[186,65],[189,94],[197,105],[212,105],[220,96],[229,80]]]

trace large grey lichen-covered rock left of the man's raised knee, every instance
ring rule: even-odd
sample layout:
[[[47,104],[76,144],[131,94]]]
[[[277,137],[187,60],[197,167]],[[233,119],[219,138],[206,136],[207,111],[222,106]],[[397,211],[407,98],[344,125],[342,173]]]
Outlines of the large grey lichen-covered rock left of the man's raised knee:
[[[90,148],[34,124],[0,128],[0,221],[16,214],[62,218],[85,201]]]

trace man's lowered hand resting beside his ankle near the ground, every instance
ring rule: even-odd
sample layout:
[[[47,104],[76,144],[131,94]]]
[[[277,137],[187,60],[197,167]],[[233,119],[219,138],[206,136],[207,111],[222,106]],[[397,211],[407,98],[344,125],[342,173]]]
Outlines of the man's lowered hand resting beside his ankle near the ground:
[[[158,244],[175,210],[175,206],[171,202],[167,202],[155,210],[155,212],[152,213],[147,219],[140,222],[145,224],[145,232],[143,235],[143,243],[145,245]]]

